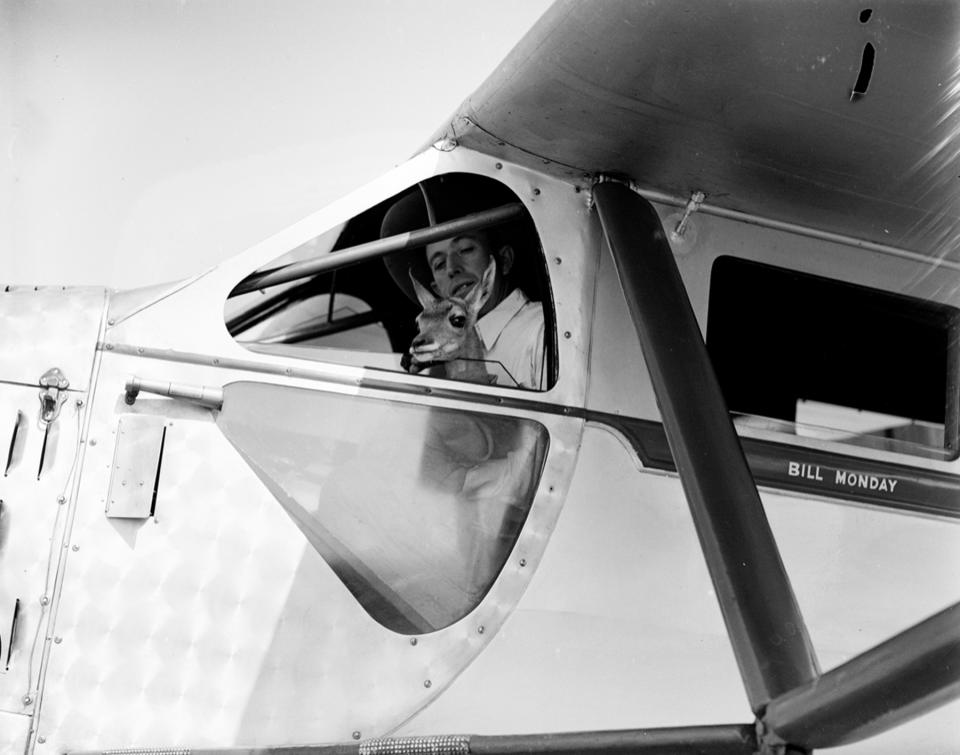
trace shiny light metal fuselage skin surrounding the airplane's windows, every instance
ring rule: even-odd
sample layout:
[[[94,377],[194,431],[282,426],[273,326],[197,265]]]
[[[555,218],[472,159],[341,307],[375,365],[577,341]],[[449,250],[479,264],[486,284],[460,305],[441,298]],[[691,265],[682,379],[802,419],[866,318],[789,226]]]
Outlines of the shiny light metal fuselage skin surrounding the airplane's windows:
[[[453,385],[319,350],[310,360],[271,356],[228,334],[224,302],[244,277],[417,181],[455,171],[506,183],[536,224],[556,316],[550,390]],[[428,149],[186,284],[0,293],[0,422],[12,427],[17,411],[29,420],[18,462],[0,481],[4,654],[7,617],[17,598],[23,606],[0,673],[0,745],[262,747],[752,720],[680,481],[646,463],[613,421],[657,423],[660,414],[590,198],[583,182],[462,147]],[[655,203],[666,227],[682,202]],[[960,271],[950,266],[735,218],[695,213],[673,251],[704,331],[721,255],[958,304]],[[70,394],[38,480],[36,381],[53,366]],[[361,608],[224,438],[214,411],[149,395],[128,405],[131,376],[480,408],[541,422],[550,447],[489,592],[452,626],[411,638]],[[163,460],[153,514],[117,519],[106,498],[117,429],[131,414],[162,419]],[[960,475],[956,460],[740,434],[786,447],[784,463],[789,449],[797,458],[813,450]],[[761,498],[823,669],[960,595],[956,516],[772,482]],[[958,717],[953,704],[838,751],[950,749]]]

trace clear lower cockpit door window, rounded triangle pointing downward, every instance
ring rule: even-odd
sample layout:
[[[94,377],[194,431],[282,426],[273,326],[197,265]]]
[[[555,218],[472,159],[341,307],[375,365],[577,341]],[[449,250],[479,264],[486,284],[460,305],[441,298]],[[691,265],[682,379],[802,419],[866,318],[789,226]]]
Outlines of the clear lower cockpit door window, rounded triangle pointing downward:
[[[405,634],[483,598],[548,435],[527,419],[239,382],[217,423],[367,612]]]

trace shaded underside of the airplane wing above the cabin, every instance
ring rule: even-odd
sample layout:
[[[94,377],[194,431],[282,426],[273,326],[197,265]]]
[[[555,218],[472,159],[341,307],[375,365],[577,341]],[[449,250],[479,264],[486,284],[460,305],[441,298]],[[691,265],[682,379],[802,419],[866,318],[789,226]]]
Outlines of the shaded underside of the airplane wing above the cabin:
[[[960,263],[960,6],[562,1],[438,136]]]

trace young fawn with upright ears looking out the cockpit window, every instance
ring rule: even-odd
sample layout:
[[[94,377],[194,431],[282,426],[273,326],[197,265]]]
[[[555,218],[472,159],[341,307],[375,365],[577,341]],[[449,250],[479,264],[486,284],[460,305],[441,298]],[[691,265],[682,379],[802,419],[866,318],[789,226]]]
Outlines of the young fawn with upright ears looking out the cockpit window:
[[[482,278],[463,296],[440,298],[411,274],[413,290],[423,311],[417,315],[418,335],[410,345],[411,371],[472,383],[489,383],[492,377],[486,352],[477,333],[480,310],[493,291],[497,263],[493,258]]]

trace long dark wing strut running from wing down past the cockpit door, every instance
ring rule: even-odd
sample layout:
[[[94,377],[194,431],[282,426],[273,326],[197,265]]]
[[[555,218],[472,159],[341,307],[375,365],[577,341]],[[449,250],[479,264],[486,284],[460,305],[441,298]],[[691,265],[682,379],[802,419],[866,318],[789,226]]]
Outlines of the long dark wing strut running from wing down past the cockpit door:
[[[594,192],[750,707],[761,716],[773,698],[817,678],[813,646],[660,219],[623,184]]]

